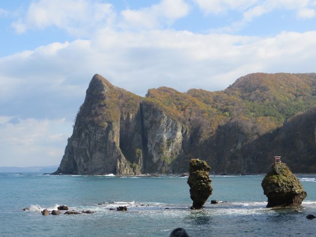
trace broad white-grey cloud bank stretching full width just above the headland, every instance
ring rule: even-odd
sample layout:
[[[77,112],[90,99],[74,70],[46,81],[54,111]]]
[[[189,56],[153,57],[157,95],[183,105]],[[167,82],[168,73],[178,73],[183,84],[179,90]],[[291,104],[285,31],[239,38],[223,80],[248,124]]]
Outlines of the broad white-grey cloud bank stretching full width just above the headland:
[[[285,32],[265,39],[173,30],[100,31],[91,40],[53,43],[0,59],[1,83],[10,85],[0,116],[62,114],[72,120],[94,73],[143,95],[159,86],[221,90],[239,76],[258,71],[312,72],[315,36],[316,32]]]

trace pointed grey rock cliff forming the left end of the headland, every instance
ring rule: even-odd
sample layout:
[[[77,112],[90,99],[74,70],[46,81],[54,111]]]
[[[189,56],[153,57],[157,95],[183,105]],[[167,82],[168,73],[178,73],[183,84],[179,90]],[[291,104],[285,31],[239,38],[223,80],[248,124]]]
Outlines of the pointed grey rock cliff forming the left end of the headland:
[[[54,174],[172,172],[184,133],[161,109],[95,75]]]

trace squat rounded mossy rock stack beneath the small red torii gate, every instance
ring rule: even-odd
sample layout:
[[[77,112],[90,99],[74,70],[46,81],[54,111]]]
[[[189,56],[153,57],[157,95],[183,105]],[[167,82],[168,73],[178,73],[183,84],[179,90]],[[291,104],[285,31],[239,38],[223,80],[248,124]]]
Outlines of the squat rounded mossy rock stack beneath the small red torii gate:
[[[307,196],[298,178],[281,162],[272,165],[261,186],[268,197],[266,207],[298,206]]]

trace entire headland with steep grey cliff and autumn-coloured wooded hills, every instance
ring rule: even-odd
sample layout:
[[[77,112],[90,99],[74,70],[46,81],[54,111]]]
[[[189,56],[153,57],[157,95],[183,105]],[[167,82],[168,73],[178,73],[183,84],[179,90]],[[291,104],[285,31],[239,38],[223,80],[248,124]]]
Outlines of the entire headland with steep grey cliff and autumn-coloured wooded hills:
[[[316,73],[252,73],[224,91],[150,89],[140,97],[93,76],[55,173],[266,173],[281,156],[316,173]]]

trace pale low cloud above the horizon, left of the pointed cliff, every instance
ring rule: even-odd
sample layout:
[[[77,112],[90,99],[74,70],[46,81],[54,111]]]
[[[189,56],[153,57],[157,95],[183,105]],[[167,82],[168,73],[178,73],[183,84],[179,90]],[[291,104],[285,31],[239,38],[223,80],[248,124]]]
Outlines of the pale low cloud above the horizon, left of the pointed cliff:
[[[65,119],[1,124],[0,166],[59,164],[70,133],[71,124]]]

